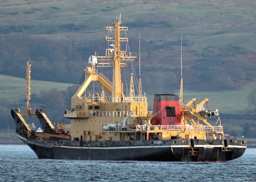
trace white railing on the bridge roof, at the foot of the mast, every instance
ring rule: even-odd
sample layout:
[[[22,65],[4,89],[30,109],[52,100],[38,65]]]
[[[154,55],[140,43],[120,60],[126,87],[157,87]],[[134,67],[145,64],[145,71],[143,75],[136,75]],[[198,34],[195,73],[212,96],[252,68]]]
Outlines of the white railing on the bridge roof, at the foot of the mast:
[[[82,99],[86,99],[88,102],[102,102],[101,96],[82,96]],[[108,102],[147,102],[147,97],[106,97]]]

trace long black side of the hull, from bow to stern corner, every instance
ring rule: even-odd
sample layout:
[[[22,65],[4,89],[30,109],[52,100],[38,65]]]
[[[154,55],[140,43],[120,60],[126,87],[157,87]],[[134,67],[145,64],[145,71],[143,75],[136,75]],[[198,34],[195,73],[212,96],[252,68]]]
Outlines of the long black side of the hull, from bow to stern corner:
[[[169,146],[65,146],[39,143],[18,136],[40,159],[107,160],[107,161],[180,161]],[[72,142],[71,142],[72,143]],[[78,143],[78,142],[77,142]],[[80,142],[79,142],[80,143]]]

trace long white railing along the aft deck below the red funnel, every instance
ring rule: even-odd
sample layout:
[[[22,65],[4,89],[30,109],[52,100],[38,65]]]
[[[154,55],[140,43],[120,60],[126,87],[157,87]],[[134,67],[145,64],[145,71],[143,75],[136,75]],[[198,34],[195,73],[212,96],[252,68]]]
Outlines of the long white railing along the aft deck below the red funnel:
[[[199,125],[137,125],[136,131],[223,131],[223,126],[199,126]]]

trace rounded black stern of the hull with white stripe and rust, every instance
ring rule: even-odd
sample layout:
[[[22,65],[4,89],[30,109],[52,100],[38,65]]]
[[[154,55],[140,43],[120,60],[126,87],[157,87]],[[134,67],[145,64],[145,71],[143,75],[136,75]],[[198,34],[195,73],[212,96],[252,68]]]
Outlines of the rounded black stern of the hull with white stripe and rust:
[[[172,153],[181,161],[225,162],[241,157],[246,149],[246,141],[215,139],[207,143],[197,139],[174,139],[171,147]]]

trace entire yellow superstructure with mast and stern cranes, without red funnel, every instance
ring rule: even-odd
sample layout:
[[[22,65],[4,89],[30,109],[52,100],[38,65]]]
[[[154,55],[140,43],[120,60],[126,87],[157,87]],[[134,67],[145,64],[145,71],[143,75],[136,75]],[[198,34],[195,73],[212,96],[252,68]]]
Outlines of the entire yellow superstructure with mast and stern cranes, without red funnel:
[[[203,104],[208,99],[204,99],[199,104],[192,104],[196,99],[191,99],[187,104],[183,104],[182,75],[181,125],[152,125],[151,119],[157,113],[148,111],[147,98],[142,95],[141,79],[139,79],[138,96],[136,96],[133,86],[133,75],[131,75],[129,95],[125,96],[123,91],[121,67],[127,67],[126,62],[137,59],[136,56],[132,56],[127,50],[121,50],[120,47],[121,42],[128,42],[127,37],[120,37],[120,32],[128,31],[128,27],[121,27],[121,20],[116,19],[114,27],[106,25],[106,29],[110,33],[114,32],[114,37],[106,36],[106,41],[113,43],[110,44],[112,48],[106,47],[104,56],[98,56],[96,50],[95,54],[90,56],[91,67],[86,67],[85,80],[71,98],[72,109],[65,111],[64,114],[64,117],[71,119],[69,128],[71,129],[71,140],[168,140],[173,137],[207,140],[210,137],[220,139],[223,137],[221,123],[218,126],[212,126],[207,122],[207,118],[218,115],[218,111],[208,112],[203,108]],[[98,72],[97,67],[113,67],[112,81]],[[102,91],[93,95],[85,95],[86,88],[93,81],[102,86]],[[103,88],[111,96],[106,96]],[[200,121],[204,124],[200,124]],[[67,129],[64,126],[60,126],[60,128]]]

